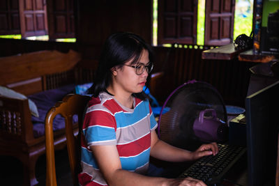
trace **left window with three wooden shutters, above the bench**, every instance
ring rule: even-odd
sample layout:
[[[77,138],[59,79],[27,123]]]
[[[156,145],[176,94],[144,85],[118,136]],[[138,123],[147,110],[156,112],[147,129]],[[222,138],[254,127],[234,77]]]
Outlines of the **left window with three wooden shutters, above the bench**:
[[[40,36],[42,40],[75,38],[73,3],[73,0],[3,0],[0,35],[30,39]]]

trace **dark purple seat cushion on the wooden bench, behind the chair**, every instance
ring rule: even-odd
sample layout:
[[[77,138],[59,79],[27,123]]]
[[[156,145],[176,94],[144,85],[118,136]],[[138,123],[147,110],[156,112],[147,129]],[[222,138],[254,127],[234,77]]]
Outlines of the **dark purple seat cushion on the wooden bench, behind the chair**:
[[[49,111],[56,102],[61,101],[65,95],[73,93],[74,90],[75,84],[70,84],[28,96],[28,98],[37,105],[39,113],[39,117],[32,116],[34,137],[40,137],[45,134],[45,115],[47,111]],[[77,122],[77,116],[73,116],[73,122]],[[57,115],[53,121],[53,130],[61,130],[63,128],[65,128],[64,118],[61,115]]]

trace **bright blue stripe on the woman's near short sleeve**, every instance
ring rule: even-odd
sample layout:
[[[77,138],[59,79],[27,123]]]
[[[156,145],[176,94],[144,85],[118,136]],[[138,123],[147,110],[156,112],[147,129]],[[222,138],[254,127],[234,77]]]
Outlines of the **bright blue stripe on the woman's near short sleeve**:
[[[87,144],[96,141],[115,140],[116,134],[112,127],[91,126],[84,130],[84,137]]]

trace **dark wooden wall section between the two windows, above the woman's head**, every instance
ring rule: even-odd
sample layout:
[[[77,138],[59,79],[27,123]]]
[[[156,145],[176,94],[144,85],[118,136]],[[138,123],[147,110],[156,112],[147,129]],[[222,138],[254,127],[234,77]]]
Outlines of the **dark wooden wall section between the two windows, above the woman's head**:
[[[108,36],[130,31],[151,44],[151,0],[78,1],[77,43],[86,60],[98,59]]]

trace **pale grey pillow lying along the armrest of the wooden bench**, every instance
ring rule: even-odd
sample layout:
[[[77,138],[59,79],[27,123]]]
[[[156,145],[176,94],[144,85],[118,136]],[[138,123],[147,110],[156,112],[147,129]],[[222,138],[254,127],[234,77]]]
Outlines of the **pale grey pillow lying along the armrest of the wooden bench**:
[[[17,99],[17,100],[27,100],[28,98],[21,94],[21,93],[17,93],[16,91],[13,91],[10,88],[7,88],[5,86],[0,86],[0,95],[6,98],[13,98],[13,99]],[[29,103],[29,109],[31,111],[31,114],[33,116],[38,117],[39,113],[38,113],[38,108],[36,107],[36,104],[28,99],[28,103]]]

